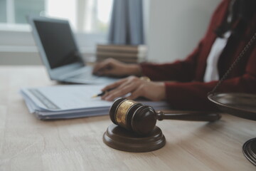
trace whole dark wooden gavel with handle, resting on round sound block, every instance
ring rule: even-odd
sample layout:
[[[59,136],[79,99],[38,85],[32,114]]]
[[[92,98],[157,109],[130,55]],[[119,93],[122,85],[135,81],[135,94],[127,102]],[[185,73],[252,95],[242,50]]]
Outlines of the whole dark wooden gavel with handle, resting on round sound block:
[[[193,120],[213,122],[218,113],[163,113],[134,100],[118,98],[110,108],[112,125],[103,135],[106,145],[129,152],[149,152],[164,147],[166,139],[156,120]]]

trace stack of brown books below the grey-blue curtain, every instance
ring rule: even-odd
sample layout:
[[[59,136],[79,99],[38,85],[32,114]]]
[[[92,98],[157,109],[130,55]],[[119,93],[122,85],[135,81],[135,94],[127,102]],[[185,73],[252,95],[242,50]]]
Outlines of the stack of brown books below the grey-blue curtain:
[[[96,58],[97,62],[114,58],[124,63],[141,63],[146,61],[146,53],[145,45],[98,44]]]

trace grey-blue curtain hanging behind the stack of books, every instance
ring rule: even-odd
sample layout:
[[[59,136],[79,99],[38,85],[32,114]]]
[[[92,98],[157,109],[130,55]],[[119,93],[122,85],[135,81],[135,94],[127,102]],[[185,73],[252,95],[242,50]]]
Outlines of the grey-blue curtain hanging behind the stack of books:
[[[114,0],[109,43],[144,44],[142,0]]]

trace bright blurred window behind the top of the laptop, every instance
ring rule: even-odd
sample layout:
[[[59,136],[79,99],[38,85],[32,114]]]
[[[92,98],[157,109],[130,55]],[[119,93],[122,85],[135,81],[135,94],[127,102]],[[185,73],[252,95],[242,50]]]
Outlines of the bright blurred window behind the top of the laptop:
[[[26,15],[68,19],[75,31],[107,33],[112,0],[0,0],[0,23],[26,25]]]

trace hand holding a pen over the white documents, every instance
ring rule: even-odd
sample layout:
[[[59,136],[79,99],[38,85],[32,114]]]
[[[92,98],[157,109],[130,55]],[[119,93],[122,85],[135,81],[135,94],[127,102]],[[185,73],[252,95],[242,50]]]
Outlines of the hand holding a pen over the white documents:
[[[102,96],[102,100],[114,100],[127,93],[131,93],[127,98],[135,99],[138,97],[148,98],[149,100],[159,101],[166,98],[166,91],[163,82],[152,82],[140,79],[136,76],[129,76],[102,89],[108,91]]]

